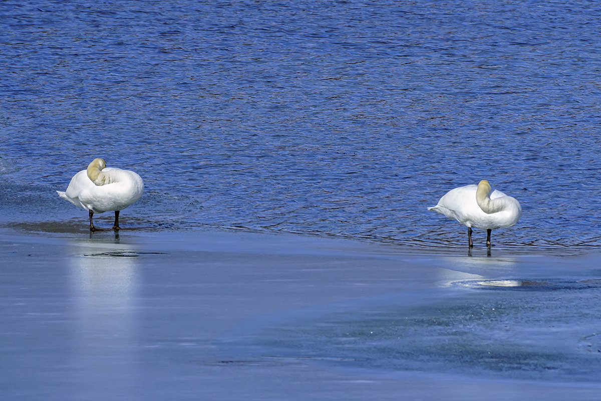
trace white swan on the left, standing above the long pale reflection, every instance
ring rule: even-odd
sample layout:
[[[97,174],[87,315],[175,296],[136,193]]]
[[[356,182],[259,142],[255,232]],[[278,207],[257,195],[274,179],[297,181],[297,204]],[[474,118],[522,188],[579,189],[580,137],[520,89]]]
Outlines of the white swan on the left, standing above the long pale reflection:
[[[115,211],[113,230],[119,230],[119,211],[137,201],[144,193],[144,182],[138,174],[120,168],[106,167],[104,159],[94,159],[87,170],[75,174],[67,191],[58,195],[75,206],[88,210],[90,231],[95,231],[94,212]]]

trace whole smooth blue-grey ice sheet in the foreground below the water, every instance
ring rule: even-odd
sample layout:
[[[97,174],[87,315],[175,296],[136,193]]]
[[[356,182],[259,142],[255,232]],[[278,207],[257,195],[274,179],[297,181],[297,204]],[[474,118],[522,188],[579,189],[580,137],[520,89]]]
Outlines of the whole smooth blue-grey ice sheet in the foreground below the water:
[[[598,399],[599,255],[0,233],[6,399]]]

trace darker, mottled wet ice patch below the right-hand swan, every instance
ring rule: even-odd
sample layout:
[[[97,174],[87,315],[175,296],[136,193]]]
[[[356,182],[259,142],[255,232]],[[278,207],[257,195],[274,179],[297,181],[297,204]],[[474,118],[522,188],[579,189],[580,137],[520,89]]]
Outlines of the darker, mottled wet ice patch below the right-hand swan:
[[[543,381],[599,382],[598,280],[474,280],[427,304],[386,298],[282,316],[220,346],[249,358]]]

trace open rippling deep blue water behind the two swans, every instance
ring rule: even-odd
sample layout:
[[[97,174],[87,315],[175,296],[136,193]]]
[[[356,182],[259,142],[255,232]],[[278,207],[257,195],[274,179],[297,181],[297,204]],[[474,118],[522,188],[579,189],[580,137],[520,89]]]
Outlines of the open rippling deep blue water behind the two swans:
[[[463,246],[426,208],[486,178],[523,207],[496,246],[601,245],[595,1],[6,1],[0,17],[2,221],[85,228],[54,190],[103,157],[145,180],[130,227]]]

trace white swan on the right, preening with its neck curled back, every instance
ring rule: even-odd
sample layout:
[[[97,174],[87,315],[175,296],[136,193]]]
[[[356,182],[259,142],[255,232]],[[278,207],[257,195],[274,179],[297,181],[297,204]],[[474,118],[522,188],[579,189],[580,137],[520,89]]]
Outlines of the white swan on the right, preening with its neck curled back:
[[[511,227],[522,216],[522,206],[516,198],[501,191],[492,191],[487,180],[481,180],[478,185],[451,189],[436,206],[429,207],[428,210],[465,224],[468,227],[470,247],[474,246],[472,227],[487,231],[486,245],[490,246],[490,231],[499,227]]]

